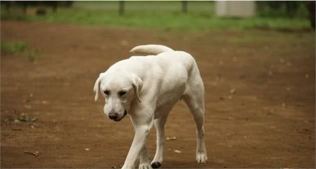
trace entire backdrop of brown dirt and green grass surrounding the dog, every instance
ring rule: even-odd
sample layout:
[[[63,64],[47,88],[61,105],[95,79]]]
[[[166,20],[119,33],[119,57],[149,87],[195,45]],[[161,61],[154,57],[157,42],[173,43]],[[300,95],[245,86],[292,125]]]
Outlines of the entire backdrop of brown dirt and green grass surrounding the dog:
[[[120,168],[133,126],[92,89],[143,44],[190,53],[205,87],[208,162],[179,101],[163,168],[315,167],[315,1],[1,1],[0,27],[2,168]]]

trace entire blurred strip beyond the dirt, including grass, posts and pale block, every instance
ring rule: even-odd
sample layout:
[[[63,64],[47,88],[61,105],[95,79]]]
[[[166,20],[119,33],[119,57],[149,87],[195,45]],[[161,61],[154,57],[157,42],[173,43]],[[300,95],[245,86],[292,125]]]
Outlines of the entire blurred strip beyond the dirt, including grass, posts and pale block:
[[[2,1],[1,19],[135,28],[315,28],[313,1]]]

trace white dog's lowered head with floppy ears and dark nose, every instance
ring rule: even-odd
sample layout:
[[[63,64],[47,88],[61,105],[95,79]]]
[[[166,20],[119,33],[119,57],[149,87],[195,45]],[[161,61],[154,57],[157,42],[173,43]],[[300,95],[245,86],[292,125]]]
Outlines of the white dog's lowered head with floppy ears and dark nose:
[[[98,92],[105,98],[104,114],[114,121],[120,121],[128,112],[134,99],[140,102],[139,93],[142,88],[141,79],[128,72],[100,73],[94,84],[95,97]]]

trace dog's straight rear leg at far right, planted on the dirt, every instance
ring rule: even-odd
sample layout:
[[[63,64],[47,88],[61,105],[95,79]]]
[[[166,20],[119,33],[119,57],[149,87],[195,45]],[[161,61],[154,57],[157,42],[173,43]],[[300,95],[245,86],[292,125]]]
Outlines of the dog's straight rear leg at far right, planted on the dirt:
[[[201,80],[201,83],[196,83]],[[207,152],[205,148],[205,138],[204,138],[204,86],[202,79],[197,79],[193,81],[194,87],[187,86],[186,92],[183,95],[183,100],[191,110],[194,121],[197,127],[197,162],[205,163],[207,161]]]

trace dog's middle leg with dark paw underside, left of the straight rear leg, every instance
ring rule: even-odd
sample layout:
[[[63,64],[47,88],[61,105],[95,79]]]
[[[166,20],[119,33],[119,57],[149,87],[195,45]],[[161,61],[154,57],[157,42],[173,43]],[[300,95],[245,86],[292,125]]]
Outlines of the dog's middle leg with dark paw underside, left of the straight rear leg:
[[[167,121],[167,117],[169,112],[164,116],[154,119],[153,124],[156,129],[156,153],[154,155],[153,160],[151,161],[152,168],[159,168],[164,160],[164,146],[165,146],[165,123]]]

